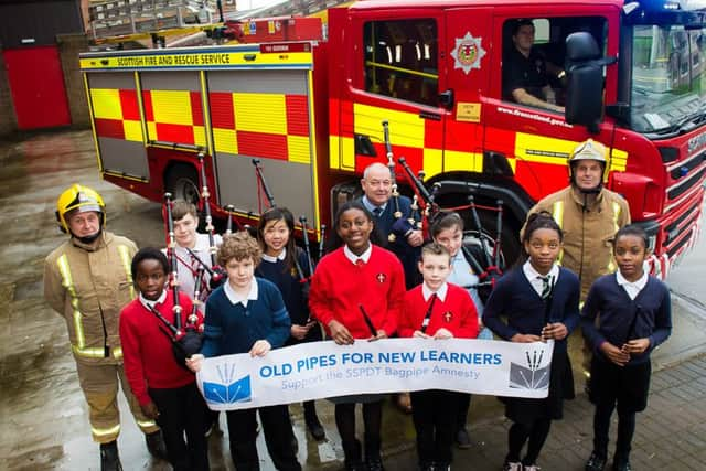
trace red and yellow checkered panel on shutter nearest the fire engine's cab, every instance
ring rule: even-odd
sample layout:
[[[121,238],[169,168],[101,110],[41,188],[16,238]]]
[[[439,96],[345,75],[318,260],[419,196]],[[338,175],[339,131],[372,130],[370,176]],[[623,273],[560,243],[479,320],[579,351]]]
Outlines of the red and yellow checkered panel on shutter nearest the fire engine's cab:
[[[212,92],[208,106],[216,152],[311,162],[306,95]]]

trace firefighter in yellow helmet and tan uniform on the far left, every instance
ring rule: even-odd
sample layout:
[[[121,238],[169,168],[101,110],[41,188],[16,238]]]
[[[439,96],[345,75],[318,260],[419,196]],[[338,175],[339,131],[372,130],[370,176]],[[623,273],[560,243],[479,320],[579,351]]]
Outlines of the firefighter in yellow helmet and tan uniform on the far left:
[[[58,196],[56,220],[71,238],[44,260],[44,298],[66,321],[93,439],[100,443],[101,470],[121,469],[118,382],[148,450],[163,458],[159,427],[140,410],[122,371],[118,315],[135,298],[130,261],[137,246],[105,229],[103,197],[84,185],[74,184]]]

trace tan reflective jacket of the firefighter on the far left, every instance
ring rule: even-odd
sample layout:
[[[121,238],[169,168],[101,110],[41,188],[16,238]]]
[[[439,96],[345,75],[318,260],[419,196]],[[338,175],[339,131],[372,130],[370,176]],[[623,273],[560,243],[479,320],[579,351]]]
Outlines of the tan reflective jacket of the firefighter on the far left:
[[[122,362],[118,317],[135,298],[136,251],[132,240],[104,231],[96,248],[72,237],[44,260],[44,299],[66,320],[77,362]]]

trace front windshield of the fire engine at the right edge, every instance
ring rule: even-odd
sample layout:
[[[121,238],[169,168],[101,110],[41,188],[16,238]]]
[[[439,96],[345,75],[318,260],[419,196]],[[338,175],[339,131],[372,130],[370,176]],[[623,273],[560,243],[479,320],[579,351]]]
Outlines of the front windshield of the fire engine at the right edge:
[[[706,29],[634,25],[632,116],[634,130],[671,133],[706,117]]]

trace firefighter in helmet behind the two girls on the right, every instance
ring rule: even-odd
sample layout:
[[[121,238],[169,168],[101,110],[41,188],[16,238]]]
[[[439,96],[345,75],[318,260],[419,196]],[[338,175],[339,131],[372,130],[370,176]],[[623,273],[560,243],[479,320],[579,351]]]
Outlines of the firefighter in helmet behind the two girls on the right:
[[[568,159],[569,185],[542,199],[530,210],[550,213],[564,231],[559,264],[581,281],[581,306],[593,281],[616,271],[611,240],[630,224],[628,202],[603,186],[608,176],[608,149],[588,139]],[[524,227],[523,227],[524,231]],[[590,370],[590,350],[584,347],[584,371]]]

